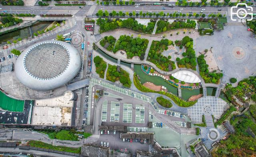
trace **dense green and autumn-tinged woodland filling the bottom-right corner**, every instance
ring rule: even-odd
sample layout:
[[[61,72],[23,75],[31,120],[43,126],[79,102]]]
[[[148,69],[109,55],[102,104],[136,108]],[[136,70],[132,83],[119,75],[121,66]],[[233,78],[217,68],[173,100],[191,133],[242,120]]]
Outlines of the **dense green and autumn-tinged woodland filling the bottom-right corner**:
[[[226,140],[220,141],[218,147],[212,150],[213,157],[253,157],[256,150],[256,117],[255,104],[250,105],[249,111],[242,115],[233,115],[230,124],[235,133]]]

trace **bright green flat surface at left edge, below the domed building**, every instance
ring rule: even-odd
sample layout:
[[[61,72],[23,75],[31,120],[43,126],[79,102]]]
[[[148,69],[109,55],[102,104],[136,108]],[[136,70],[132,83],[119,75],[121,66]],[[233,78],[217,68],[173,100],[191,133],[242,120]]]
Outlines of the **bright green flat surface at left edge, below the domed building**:
[[[23,112],[24,101],[12,99],[0,91],[0,108],[12,112]]]

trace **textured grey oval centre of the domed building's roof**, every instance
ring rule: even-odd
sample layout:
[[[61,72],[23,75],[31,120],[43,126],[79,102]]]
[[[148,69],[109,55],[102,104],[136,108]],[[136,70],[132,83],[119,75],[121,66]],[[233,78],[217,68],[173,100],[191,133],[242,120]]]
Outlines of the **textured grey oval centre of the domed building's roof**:
[[[28,72],[37,78],[54,78],[61,74],[68,65],[67,50],[54,43],[41,44],[25,56]]]

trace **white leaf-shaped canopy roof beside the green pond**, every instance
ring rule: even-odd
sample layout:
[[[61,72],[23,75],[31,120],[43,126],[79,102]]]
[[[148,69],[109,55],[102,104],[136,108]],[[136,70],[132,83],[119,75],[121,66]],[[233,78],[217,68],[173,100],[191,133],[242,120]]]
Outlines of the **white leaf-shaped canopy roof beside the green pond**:
[[[173,73],[172,76],[180,81],[184,81],[187,83],[199,83],[201,80],[196,76],[196,74],[186,71],[186,70],[181,70],[176,73]]]

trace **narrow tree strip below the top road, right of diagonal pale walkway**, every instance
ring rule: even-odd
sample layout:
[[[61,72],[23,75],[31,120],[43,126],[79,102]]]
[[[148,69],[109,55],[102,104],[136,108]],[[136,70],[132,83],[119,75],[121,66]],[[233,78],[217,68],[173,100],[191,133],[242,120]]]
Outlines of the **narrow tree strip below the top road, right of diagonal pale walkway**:
[[[170,24],[170,22],[165,20],[159,20],[157,22],[156,33],[165,32],[167,30],[173,30],[178,28],[196,28],[196,22],[194,20],[175,20]]]

